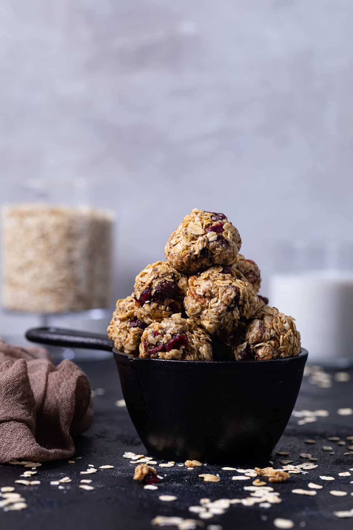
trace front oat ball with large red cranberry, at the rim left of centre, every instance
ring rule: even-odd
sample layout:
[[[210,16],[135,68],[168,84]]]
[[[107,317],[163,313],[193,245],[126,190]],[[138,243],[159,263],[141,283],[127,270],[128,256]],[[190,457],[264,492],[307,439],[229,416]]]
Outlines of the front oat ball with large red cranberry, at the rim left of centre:
[[[211,338],[192,319],[175,314],[144,330],[140,357],[212,361]]]

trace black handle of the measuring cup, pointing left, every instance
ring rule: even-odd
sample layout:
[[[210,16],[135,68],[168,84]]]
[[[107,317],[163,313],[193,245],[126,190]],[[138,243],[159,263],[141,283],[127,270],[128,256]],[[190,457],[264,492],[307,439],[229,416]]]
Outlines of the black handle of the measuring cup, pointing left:
[[[114,342],[106,335],[64,328],[32,328],[26,332],[26,339],[40,344],[67,348],[107,351],[112,351],[114,348]]]

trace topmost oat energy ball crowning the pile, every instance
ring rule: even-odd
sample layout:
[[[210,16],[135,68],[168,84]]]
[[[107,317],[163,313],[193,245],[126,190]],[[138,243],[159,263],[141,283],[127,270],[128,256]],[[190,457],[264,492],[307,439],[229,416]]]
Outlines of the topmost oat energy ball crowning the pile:
[[[224,214],[195,208],[171,234],[164,252],[176,269],[197,272],[232,264],[240,246],[239,232]]]

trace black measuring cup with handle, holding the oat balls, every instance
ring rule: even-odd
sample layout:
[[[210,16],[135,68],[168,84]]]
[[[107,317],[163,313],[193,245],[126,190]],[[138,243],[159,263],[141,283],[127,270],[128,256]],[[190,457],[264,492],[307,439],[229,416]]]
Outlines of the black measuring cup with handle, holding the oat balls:
[[[207,463],[266,462],[288,423],[307,350],[263,361],[140,359],[106,335],[35,328],[33,342],[111,350],[131,420],[149,454]]]

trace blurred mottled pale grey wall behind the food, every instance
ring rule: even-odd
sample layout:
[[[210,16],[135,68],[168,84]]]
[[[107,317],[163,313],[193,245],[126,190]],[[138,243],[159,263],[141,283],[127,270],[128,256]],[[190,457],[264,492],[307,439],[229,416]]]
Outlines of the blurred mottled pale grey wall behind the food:
[[[238,227],[266,294],[278,240],[350,235],[352,16],[348,0],[3,0],[1,179],[117,184],[115,297],[194,207]]]

